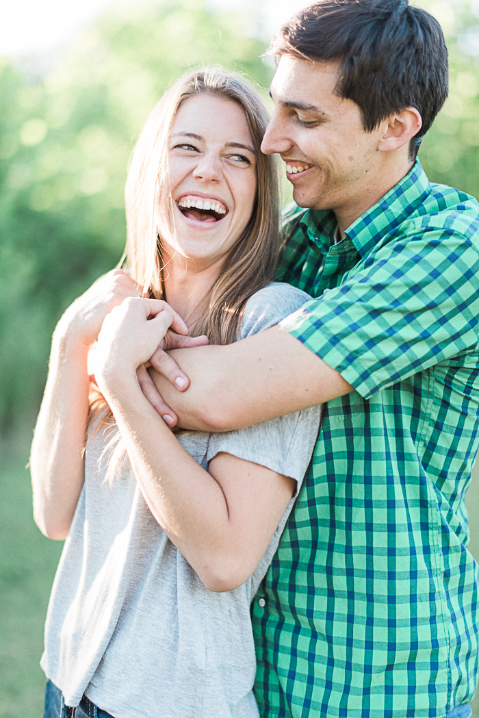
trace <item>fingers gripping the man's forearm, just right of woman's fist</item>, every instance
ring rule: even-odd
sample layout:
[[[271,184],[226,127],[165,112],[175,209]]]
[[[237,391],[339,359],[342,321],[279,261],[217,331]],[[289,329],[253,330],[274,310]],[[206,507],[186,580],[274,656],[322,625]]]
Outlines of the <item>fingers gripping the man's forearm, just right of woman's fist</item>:
[[[149,376],[148,367],[152,366],[159,371],[178,391],[185,391],[188,386],[190,386],[190,379],[186,376],[185,372],[180,369],[175,360],[167,354],[167,351],[169,349],[199,347],[205,344],[208,344],[208,337],[184,337],[168,330],[164,337],[164,347],[157,348],[150,360],[145,364],[141,364],[136,370],[141,391],[143,391],[144,396],[146,396],[149,403],[152,404],[153,408],[156,409],[168,426],[175,426],[178,417],[175,411],[164,403],[161,394],[157,390],[157,387],[154,386],[151,376]]]

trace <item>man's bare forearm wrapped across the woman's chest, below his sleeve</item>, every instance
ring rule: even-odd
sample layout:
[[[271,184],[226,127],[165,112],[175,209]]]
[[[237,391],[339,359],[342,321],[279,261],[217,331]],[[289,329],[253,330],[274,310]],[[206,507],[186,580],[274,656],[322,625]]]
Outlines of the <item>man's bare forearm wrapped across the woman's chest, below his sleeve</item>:
[[[353,389],[279,327],[227,346],[181,349],[172,355],[189,376],[190,388],[180,393],[157,372],[152,377],[183,429],[243,429]]]

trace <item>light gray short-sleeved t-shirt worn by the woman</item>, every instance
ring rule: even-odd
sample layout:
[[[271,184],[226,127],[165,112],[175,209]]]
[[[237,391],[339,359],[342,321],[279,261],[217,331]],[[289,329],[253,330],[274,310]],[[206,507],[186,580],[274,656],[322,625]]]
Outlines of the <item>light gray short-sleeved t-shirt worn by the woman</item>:
[[[277,324],[309,297],[270,284],[246,304],[241,338]],[[183,432],[208,468],[219,452],[292,477],[300,488],[320,406],[236,432]],[[65,703],[83,693],[115,718],[258,718],[250,604],[276,551],[297,491],[259,567],[224,593],[206,589],[150,513],[128,460],[113,488],[88,444],[85,485],[53,584],[41,665]]]

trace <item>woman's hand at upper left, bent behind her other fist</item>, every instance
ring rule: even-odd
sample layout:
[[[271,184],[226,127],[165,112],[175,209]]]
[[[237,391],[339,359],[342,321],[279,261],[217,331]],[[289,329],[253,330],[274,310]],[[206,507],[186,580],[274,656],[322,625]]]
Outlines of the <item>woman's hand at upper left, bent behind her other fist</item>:
[[[90,347],[106,315],[129,297],[138,297],[136,283],[122,269],[113,269],[75,299],[60,319],[58,330]]]

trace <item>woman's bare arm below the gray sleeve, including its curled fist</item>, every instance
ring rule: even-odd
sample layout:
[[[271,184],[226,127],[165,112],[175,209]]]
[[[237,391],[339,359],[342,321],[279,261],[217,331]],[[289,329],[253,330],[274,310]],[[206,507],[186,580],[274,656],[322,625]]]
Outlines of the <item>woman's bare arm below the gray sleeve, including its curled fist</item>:
[[[155,348],[171,321],[167,312],[149,319],[150,310],[152,300],[133,300],[107,317],[98,337],[98,385],[154,518],[207,588],[230,590],[254,573],[295,483],[224,452],[206,471],[187,453],[136,377],[136,365],[152,353],[149,343]]]

